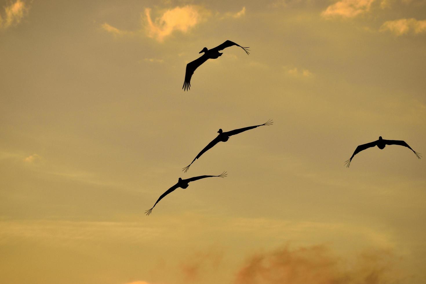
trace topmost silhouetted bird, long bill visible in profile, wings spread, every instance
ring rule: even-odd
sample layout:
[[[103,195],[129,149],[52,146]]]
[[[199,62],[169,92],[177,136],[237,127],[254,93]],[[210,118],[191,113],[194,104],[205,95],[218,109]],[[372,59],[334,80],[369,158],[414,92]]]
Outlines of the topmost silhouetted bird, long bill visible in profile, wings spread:
[[[245,53],[250,54],[249,53],[250,49],[248,49],[250,47],[240,46],[240,45],[238,45],[238,44],[236,44],[236,43],[234,43],[230,40],[227,40],[224,43],[222,43],[221,45],[216,46],[215,48],[212,48],[212,49],[207,49],[207,47],[204,47],[199,52],[199,53],[204,52],[204,54],[201,57],[197,58],[196,60],[187,64],[187,69],[186,69],[186,72],[185,72],[185,82],[184,82],[184,85],[182,86],[182,89],[184,89],[184,91],[190,89],[191,77],[194,74],[195,69],[197,69],[201,64],[206,62],[207,59],[216,59],[219,56],[222,56],[222,53],[219,52],[219,50],[223,50],[223,49],[230,47],[230,46],[239,46],[242,49],[244,49]]]

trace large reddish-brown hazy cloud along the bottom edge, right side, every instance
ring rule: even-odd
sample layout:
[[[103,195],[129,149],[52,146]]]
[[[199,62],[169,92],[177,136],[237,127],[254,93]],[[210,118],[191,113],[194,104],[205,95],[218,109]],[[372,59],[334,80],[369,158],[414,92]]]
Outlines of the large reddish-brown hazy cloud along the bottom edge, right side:
[[[236,273],[234,284],[399,283],[394,259],[386,250],[369,250],[345,259],[331,254],[324,245],[296,250],[284,247],[251,256]]]

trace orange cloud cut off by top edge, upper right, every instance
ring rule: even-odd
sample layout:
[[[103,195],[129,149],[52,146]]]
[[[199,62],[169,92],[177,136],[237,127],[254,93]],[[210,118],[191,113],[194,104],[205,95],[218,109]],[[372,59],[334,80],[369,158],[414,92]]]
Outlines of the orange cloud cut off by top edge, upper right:
[[[321,16],[329,19],[332,17],[353,18],[370,10],[374,0],[341,0],[330,5],[321,13]]]

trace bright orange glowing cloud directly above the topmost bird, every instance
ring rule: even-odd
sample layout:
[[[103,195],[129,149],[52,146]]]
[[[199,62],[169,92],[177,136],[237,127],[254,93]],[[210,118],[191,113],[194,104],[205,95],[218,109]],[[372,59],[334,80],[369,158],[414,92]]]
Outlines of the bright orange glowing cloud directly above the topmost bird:
[[[148,37],[163,42],[164,37],[174,31],[187,33],[191,28],[200,23],[207,14],[202,12],[199,6],[187,5],[165,11],[161,17],[151,19],[151,9],[145,9],[146,30]]]

